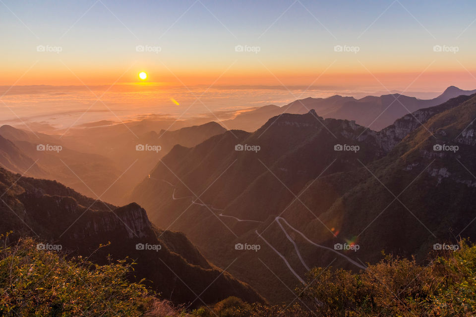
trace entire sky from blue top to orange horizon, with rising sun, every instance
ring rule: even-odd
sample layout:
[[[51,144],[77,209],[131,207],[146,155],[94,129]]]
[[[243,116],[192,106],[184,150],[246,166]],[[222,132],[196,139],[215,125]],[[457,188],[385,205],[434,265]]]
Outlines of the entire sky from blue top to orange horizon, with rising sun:
[[[162,86],[474,89],[475,8],[474,0],[0,0],[0,86],[137,84],[145,71]]]

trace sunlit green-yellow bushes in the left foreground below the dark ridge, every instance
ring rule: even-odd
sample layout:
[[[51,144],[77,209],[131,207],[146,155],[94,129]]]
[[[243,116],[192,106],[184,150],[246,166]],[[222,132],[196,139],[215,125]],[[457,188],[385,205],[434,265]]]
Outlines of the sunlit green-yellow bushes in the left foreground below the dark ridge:
[[[36,246],[26,238],[0,247],[0,316],[180,316],[125,279],[125,260],[97,265]]]

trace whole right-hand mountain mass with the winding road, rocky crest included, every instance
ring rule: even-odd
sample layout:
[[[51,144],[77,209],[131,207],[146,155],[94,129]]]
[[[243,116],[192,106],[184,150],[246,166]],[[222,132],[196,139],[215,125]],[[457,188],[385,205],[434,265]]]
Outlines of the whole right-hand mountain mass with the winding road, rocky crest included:
[[[392,96],[362,102],[375,98]],[[385,250],[423,261],[434,243],[455,242],[460,232],[474,238],[476,180],[468,170],[476,170],[475,118],[476,95],[420,107],[378,132],[314,109],[285,113],[254,133],[174,147],[132,199],[152,222],[185,232],[214,263],[238,257],[233,274],[279,302],[290,294],[277,291],[281,282],[267,278],[269,269],[294,285],[306,267],[334,259],[333,266],[359,269]],[[236,151],[238,144],[260,150]],[[435,144],[460,149],[434,151]],[[354,241],[358,252],[336,254],[334,244]],[[245,242],[261,249],[235,250]]]

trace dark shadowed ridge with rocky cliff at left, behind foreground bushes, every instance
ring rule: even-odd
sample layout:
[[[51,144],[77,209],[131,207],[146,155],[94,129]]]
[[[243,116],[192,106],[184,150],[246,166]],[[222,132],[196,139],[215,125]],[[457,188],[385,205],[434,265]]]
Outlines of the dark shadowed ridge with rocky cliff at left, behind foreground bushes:
[[[182,233],[153,227],[135,203],[116,207],[55,181],[20,177],[3,168],[0,191],[0,234],[13,230],[13,238],[34,236],[100,264],[107,263],[108,256],[129,257],[136,263],[132,280],[150,281],[150,287],[176,303],[194,306],[229,296],[263,301],[251,287],[208,263]],[[202,292],[197,299],[195,294]]]

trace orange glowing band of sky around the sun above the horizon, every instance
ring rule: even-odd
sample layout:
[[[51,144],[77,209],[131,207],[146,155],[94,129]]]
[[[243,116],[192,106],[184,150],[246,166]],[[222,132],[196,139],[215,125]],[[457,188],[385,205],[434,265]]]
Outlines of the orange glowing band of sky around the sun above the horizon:
[[[214,85],[219,86],[309,86],[316,87],[340,87],[343,89],[356,89],[362,87],[376,87],[379,90],[406,89],[419,91],[441,91],[450,85],[458,86],[462,89],[475,89],[476,80],[473,75],[476,71],[455,68],[453,71],[447,69],[428,69],[420,74],[424,69],[416,71],[382,71],[379,69],[365,69],[360,67],[350,68],[347,71],[341,68],[330,67],[316,68],[309,71],[288,71],[288,70],[262,70],[255,69],[230,69],[223,70],[210,69],[209,71],[185,71],[173,70],[163,67],[148,67],[151,73],[161,74],[160,78],[149,76],[137,81],[137,76],[141,71],[123,65],[116,68],[106,68],[101,71],[97,69],[89,71],[85,68],[55,68],[47,69],[44,65],[35,65],[29,69],[24,67],[21,70],[5,69],[0,79],[0,86],[29,86],[29,85],[52,85],[52,86],[95,86],[95,85],[141,85],[141,86],[193,86],[193,85]],[[272,71],[272,73],[271,73]],[[45,76],[48,74],[48,76]],[[419,76],[419,77],[418,77]],[[139,77],[140,78],[140,77]],[[417,79],[416,79],[417,78]],[[217,80],[218,79],[218,80]],[[317,80],[316,80],[317,79]],[[415,80],[416,79],[416,80]],[[383,86],[382,86],[383,85]],[[125,88],[124,88],[125,89]]]

